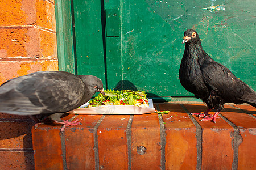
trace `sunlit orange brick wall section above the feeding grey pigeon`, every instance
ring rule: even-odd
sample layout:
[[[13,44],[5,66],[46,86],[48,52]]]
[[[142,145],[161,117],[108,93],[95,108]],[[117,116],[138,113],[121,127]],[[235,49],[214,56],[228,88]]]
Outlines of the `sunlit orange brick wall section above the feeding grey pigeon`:
[[[58,70],[54,1],[1,0],[0,84],[42,70]]]

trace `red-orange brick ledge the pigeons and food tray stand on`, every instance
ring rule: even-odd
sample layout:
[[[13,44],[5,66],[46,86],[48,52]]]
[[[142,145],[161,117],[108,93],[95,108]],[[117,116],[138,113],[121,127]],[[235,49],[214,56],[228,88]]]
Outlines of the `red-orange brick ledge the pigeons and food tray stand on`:
[[[216,124],[189,114],[204,105],[156,104],[171,112],[78,115],[82,125],[64,133],[40,125],[32,128],[35,169],[253,169],[256,109],[241,106],[226,105]]]

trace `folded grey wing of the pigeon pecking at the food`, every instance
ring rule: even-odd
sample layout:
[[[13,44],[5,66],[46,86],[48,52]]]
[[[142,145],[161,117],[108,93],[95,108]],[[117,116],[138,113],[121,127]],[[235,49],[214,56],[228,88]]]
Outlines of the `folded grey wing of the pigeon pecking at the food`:
[[[67,112],[84,95],[84,83],[70,73],[37,72],[0,87],[0,112],[19,115]]]

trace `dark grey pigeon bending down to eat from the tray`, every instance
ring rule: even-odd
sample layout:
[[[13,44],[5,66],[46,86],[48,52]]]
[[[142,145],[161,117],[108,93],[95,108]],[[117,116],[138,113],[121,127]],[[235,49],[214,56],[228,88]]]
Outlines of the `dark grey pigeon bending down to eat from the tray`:
[[[0,86],[0,112],[28,115],[66,126],[79,122],[63,121],[61,116],[86,103],[96,93],[104,94],[103,84],[92,75],[73,75],[64,71],[39,71],[10,79]],[[37,124],[36,124],[37,125]]]

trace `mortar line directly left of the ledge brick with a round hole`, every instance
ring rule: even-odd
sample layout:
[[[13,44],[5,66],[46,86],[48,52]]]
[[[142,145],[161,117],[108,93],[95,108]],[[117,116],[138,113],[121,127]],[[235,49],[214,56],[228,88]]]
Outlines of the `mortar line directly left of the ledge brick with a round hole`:
[[[128,150],[128,169],[131,170],[131,125],[133,124],[133,115],[130,115],[126,127],[127,150]]]

